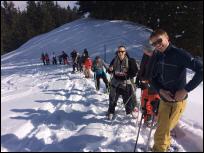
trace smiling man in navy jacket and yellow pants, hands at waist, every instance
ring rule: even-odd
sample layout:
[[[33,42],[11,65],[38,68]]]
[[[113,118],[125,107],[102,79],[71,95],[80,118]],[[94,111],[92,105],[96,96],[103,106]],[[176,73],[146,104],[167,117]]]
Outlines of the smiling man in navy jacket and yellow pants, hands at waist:
[[[161,97],[153,151],[165,152],[171,144],[170,131],[176,126],[185,109],[188,92],[203,80],[203,63],[183,49],[173,46],[168,34],[162,29],[152,32],[150,42],[159,52],[152,85]],[[195,72],[188,83],[186,68]]]

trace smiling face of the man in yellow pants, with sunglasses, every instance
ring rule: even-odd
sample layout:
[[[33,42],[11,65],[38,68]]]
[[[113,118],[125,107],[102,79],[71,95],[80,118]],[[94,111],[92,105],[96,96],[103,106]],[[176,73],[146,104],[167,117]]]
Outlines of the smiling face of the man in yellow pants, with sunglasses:
[[[169,46],[169,38],[166,35],[157,35],[150,39],[152,46],[160,52],[164,52]]]

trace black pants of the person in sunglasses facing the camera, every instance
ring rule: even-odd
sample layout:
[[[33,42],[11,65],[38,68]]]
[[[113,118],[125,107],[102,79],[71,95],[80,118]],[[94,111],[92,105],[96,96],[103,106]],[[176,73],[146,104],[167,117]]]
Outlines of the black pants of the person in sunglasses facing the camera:
[[[133,89],[130,84],[126,86],[111,86],[110,95],[109,95],[109,108],[108,113],[114,114],[115,107],[120,95],[122,95],[123,103],[125,105],[126,114],[130,114],[136,105],[135,96],[133,96]],[[130,97],[131,96],[131,97]]]

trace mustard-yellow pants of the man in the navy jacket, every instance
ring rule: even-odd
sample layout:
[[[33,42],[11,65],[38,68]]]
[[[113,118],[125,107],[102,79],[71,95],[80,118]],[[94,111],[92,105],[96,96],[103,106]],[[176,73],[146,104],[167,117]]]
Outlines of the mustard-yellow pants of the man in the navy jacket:
[[[154,134],[154,152],[165,152],[171,144],[170,131],[178,123],[186,106],[186,100],[168,103],[161,101],[158,113],[158,127]]]

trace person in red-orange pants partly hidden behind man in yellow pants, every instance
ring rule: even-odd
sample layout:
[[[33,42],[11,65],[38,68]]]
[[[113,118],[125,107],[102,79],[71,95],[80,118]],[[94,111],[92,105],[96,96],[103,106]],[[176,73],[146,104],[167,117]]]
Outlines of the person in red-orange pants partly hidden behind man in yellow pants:
[[[146,42],[143,46],[143,57],[140,63],[140,70],[137,74],[136,85],[141,88],[141,105],[144,113],[144,125],[150,127],[153,119],[154,104],[160,101],[159,94],[151,85],[152,70],[156,64],[156,51],[153,46]]]

